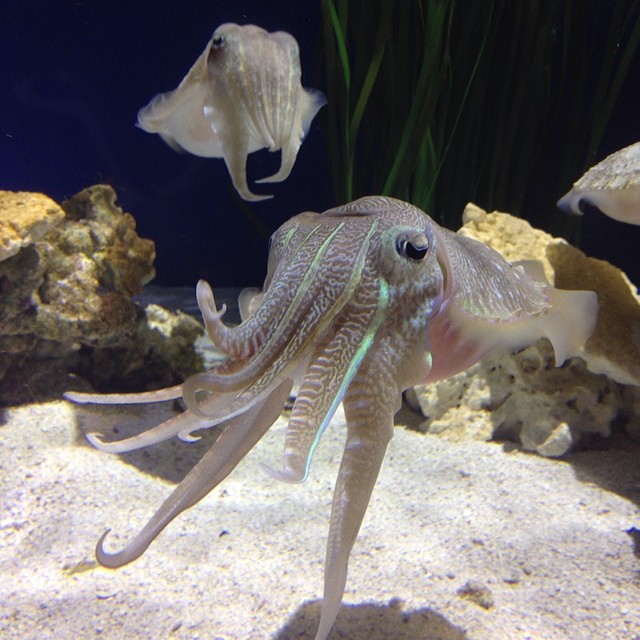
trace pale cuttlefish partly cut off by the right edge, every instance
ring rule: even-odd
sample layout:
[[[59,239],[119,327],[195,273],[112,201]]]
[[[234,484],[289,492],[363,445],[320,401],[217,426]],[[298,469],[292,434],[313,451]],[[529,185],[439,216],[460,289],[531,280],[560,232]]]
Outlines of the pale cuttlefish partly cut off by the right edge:
[[[614,220],[640,224],[640,142],[591,167],[557,205],[577,215],[590,205]]]

